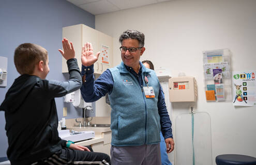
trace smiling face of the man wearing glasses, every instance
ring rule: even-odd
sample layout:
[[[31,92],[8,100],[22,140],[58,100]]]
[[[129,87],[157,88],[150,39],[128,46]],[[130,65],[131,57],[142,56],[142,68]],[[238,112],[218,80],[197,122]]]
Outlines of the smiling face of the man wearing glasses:
[[[136,39],[124,39],[122,41],[122,47],[131,48],[131,47],[140,47],[139,41]],[[130,53],[127,50],[125,53],[121,52],[121,57],[125,65],[134,69],[139,67],[140,57],[145,51],[145,47],[139,48],[137,51]]]

